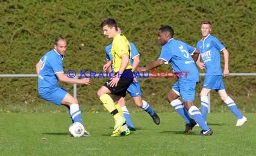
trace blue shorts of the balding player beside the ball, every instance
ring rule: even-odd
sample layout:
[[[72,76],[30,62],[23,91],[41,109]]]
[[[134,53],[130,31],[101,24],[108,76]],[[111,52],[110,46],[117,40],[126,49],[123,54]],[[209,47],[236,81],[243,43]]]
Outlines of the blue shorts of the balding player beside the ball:
[[[62,103],[62,100],[64,99],[65,95],[67,94],[66,89],[62,87],[54,87],[52,89],[49,89],[48,91],[44,89],[43,93],[40,93],[42,99],[52,102],[54,104],[60,105]]]

